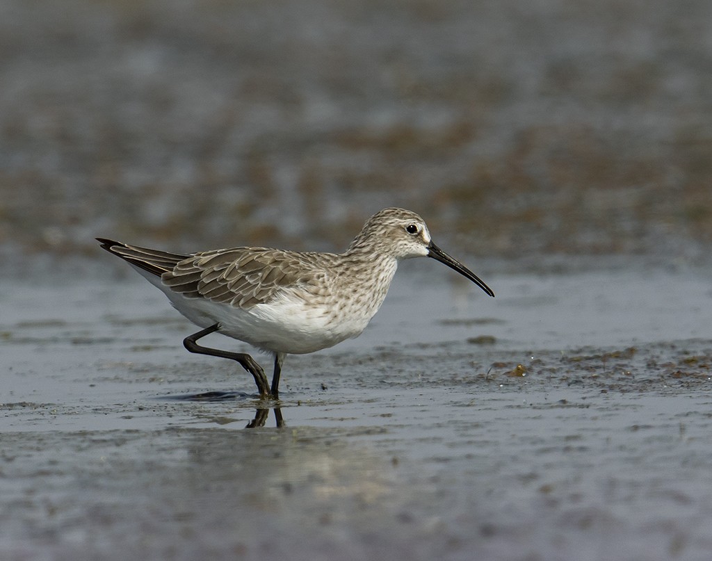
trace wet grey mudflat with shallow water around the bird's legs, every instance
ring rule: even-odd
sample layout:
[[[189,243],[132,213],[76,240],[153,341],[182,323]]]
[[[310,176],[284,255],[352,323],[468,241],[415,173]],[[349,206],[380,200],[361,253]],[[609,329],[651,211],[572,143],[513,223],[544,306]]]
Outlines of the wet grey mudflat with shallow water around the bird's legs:
[[[708,557],[709,271],[403,269],[279,429],[140,279],[8,283],[0,557]]]

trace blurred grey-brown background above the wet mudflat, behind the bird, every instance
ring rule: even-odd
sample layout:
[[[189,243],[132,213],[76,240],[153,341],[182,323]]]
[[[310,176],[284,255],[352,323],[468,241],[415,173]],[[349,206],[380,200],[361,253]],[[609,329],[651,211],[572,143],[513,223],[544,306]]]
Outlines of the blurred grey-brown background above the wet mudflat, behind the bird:
[[[712,2],[0,3],[6,263],[340,251],[392,205],[459,256],[705,258]]]

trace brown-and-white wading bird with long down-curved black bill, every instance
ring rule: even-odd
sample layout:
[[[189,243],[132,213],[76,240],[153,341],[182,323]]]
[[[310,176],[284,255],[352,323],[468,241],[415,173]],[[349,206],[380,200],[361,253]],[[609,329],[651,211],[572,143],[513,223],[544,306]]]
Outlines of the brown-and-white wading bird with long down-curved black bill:
[[[433,243],[420,216],[404,209],[371,216],[344,253],[255,247],[172,253],[97,240],[202,327],[184,339],[187,350],[236,360],[252,374],[263,398],[277,399],[286,355],[332,347],[365,330],[401,259],[434,258],[494,296],[475,273]],[[270,352],[271,386],[250,355],[198,345],[212,332]]]

